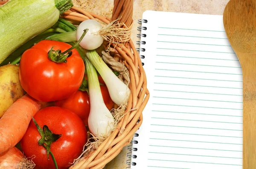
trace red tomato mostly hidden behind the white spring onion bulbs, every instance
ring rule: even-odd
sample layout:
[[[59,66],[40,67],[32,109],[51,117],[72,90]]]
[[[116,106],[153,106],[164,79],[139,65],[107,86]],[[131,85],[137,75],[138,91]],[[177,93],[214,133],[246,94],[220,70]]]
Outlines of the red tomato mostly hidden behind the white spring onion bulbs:
[[[111,110],[114,106],[114,102],[111,100],[107,86],[100,85],[100,89],[105,105],[109,110]],[[84,121],[84,124],[88,126],[90,99],[87,92],[78,90],[67,99],[55,101],[55,106],[60,106],[76,113]]]

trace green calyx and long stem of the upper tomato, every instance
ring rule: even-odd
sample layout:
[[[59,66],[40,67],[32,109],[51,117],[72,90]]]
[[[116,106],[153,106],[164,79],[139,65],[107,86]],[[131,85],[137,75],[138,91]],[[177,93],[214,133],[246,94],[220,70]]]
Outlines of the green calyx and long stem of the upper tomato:
[[[84,33],[80,37],[79,41],[76,42],[74,46],[72,46],[70,49],[67,49],[64,52],[61,52],[61,50],[53,50],[54,46],[52,46],[51,50],[48,52],[48,58],[52,62],[55,63],[67,63],[67,57],[70,57],[72,55],[73,49],[75,49],[77,46],[79,46],[79,43],[84,38],[85,34],[88,32],[89,29],[84,29]]]

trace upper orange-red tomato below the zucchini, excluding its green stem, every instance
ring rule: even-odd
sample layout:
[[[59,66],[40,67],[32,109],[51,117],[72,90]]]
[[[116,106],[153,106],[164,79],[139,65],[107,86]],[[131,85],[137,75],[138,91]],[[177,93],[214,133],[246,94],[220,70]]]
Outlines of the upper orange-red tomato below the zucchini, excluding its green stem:
[[[67,63],[55,63],[48,58],[53,46],[61,52],[72,47],[64,42],[42,40],[20,59],[21,86],[31,97],[44,102],[69,97],[79,89],[84,77],[84,62],[77,50],[72,50]]]

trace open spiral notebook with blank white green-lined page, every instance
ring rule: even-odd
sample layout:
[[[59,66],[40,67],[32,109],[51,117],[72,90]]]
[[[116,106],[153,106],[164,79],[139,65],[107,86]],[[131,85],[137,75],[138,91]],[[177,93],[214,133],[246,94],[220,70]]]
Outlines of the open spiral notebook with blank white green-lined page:
[[[150,99],[131,169],[242,169],[242,71],[223,16],[145,11],[140,56]]]

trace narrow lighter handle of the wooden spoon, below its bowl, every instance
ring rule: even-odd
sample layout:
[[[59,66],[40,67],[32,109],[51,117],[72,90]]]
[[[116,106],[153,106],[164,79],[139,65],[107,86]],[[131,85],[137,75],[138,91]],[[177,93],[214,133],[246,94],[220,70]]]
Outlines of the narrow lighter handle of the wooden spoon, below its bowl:
[[[256,169],[256,54],[241,54],[243,72],[243,169]]]

